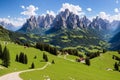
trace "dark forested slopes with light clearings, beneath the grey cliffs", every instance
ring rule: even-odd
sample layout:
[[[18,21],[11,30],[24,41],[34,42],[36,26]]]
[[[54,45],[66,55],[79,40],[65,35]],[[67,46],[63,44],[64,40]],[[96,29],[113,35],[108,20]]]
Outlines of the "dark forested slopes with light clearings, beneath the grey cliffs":
[[[102,34],[92,28],[83,29],[61,29],[51,34],[36,35],[12,32],[1,27],[0,40],[17,42],[19,44],[35,45],[36,42],[44,42],[60,48],[65,47],[88,47],[89,45],[99,46],[104,39]]]

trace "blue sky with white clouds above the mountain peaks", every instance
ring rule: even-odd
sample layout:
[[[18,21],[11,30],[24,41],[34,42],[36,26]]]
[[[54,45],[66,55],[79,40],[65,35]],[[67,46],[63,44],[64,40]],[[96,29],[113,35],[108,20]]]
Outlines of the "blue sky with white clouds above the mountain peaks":
[[[55,16],[66,8],[80,17],[120,20],[120,0],[0,0],[0,21],[18,27],[32,15]]]

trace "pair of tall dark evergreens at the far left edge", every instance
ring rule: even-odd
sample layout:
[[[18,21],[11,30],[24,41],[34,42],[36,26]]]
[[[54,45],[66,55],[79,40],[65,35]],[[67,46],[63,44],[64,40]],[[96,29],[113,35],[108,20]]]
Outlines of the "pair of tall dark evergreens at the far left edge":
[[[0,59],[2,60],[2,65],[5,67],[10,66],[10,53],[7,47],[4,47],[4,50],[2,51],[2,45],[0,44]]]

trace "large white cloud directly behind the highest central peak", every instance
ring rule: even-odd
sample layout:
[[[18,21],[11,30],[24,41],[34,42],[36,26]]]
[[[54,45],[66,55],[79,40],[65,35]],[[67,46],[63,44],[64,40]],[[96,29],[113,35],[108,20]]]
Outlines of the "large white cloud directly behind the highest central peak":
[[[69,9],[70,12],[73,12],[74,14],[77,14],[77,15],[83,15],[84,14],[82,12],[82,8],[79,5],[63,3],[62,8],[60,9],[60,11],[65,11],[65,9]]]

